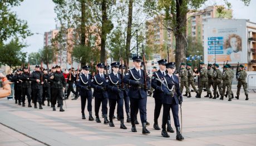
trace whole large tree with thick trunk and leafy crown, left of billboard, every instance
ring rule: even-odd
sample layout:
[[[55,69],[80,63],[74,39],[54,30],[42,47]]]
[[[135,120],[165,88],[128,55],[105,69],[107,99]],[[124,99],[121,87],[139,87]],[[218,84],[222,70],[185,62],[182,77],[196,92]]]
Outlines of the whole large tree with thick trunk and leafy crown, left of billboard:
[[[146,0],[145,11],[152,17],[163,17],[168,25],[164,25],[164,28],[169,32],[173,32],[175,36],[175,62],[176,67],[180,66],[180,63],[185,60],[185,49],[187,47],[186,40],[186,14],[191,9],[200,8],[207,0]],[[250,3],[250,0],[241,0],[245,5]],[[224,0],[228,7],[230,3],[228,0]],[[218,10],[221,12],[221,9]]]

